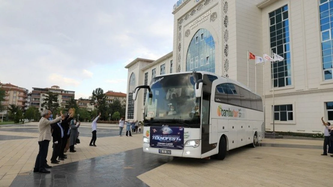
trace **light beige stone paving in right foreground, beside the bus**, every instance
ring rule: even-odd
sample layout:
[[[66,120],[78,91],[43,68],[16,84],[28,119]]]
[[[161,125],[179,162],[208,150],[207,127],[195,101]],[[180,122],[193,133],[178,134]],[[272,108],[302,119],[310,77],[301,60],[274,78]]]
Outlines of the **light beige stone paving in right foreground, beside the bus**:
[[[322,172],[333,167],[333,159],[320,153],[318,149],[241,147],[229,151],[224,160],[178,158],[138,178],[150,186],[170,180],[179,186],[329,186],[332,181]]]

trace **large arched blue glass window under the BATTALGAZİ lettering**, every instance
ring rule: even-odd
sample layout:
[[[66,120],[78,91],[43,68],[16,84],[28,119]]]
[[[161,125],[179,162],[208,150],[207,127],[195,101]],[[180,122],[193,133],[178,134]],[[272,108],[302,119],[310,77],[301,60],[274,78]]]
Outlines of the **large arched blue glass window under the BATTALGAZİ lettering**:
[[[186,71],[215,73],[215,42],[210,32],[199,29],[187,49]]]

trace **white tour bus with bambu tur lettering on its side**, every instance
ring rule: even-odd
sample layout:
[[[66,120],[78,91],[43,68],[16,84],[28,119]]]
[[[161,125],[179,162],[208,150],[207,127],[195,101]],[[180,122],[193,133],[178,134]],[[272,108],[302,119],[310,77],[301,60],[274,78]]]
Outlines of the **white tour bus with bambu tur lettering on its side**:
[[[243,84],[204,71],[152,78],[145,89],[143,151],[224,159],[226,151],[261,140],[261,97]]]

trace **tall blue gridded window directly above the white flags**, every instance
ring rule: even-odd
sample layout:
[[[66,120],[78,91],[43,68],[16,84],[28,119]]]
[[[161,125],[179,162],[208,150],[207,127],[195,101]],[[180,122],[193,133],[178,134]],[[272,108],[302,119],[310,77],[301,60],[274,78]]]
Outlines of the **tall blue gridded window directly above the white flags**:
[[[284,58],[283,61],[271,63],[273,85],[288,86],[291,85],[288,6],[281,7],[268,15],[271,50]]]

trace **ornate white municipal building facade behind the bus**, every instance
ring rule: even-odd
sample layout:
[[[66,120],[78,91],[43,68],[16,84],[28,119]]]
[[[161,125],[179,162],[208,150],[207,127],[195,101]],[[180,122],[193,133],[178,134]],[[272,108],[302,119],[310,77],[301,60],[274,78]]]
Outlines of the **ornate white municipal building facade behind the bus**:
[[[266,131],[273,131],[273,119],[275,131],[299,133],[323,132],[322,116],[333,122],[333,1],[179,0],[172,13],[173,51],[126,66],[126,120],[143,120],[144,91],[131,98],[136,86],[164,73],[202,70],[249,82],[265,98]],[[248,73],[248,50],[284,60],[249,60]]]

